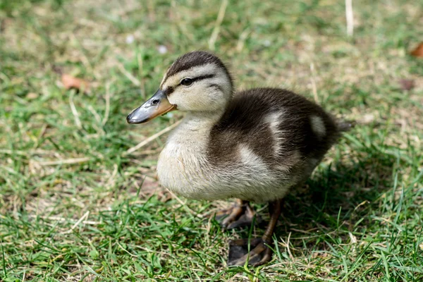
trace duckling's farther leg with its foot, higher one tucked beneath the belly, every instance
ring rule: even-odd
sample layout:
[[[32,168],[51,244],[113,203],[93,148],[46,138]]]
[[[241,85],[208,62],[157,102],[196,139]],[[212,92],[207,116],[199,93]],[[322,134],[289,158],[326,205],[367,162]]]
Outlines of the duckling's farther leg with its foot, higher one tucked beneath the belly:
[[[250,207],[250,202],[237,199],[234,207],[219,212],[216,214],[216,219],[223,219],[221,221],[223,228],[233,229],[242,226],[251,226],[252,219],[255,216],[256,212]]]

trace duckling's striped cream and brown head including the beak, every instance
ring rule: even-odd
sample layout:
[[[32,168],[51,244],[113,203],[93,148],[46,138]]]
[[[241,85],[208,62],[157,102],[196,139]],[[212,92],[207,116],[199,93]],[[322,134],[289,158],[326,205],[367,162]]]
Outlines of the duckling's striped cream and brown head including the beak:
[[[126,120],[145,123],[176,109],[223,112],[232,93],[233,81],[222,61],[206,51],[192,51],[180,56],[168,68],[159,90]]]

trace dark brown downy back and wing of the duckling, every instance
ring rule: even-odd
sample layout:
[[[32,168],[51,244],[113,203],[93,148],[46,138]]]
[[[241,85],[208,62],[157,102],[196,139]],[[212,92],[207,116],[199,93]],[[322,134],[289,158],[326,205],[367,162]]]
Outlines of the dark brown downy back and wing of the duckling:
[[[280,113],[278,138],[266,117]],[[311,117],[321,118],[324,135],[316,133]],[[238,145],[247,144],[266,164],[283,164],[293,152],[303,159],[321,159],[336,142],[338,128],[320,106],[288,90],[257,88],[238,92],[210,134],[208,155],[215,164],[228,164],[238,154]],[[280,152],[275,154],[278,142]]]

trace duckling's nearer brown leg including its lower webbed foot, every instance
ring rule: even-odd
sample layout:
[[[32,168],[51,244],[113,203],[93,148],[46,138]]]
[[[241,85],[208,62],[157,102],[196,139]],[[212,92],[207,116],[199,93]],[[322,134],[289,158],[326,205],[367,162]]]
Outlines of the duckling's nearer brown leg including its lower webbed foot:
[[[248,239],[231,240],[229,242],[228,265],[244,265],[259,266],[270,262],[272,250],[271,236],[274,228],[281,215],[281,200],[269,203],[270,221],[262,238],[250,240],[250,252],[248,252]]]

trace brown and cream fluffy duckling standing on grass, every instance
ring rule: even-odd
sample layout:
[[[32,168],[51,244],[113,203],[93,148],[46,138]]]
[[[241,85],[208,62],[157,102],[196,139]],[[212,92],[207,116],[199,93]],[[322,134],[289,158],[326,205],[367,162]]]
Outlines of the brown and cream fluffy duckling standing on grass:
[[[159,90],[127,117],[145,123],[169,111],[186,113],[159,155],[161,185],[195,200],[235,198],[220,213],[228,229],[250,225],[250,202],[269,202],[262,238],[231,240],[228,265],[271,260],[281,200],[311,175],[338,140],[341,128],[320,106],[278,88],[234,91],[226,65],[214,54],[192,51],[166,71]]]

